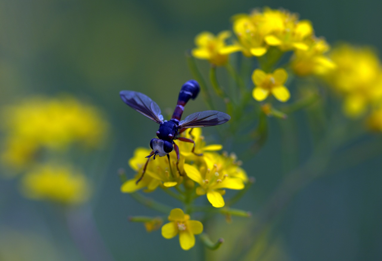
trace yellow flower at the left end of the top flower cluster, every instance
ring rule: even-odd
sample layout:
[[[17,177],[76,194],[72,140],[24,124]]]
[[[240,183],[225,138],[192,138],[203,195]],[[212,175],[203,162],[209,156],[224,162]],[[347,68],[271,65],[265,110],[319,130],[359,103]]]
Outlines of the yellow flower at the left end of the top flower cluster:
[[[216,37],[210,32],[201,32],[195,37],[197,47],[192,50],[193,56],[217,66],[226,64],[228,55],[240,50],[238,45],[226,45],[225,40],[230,36],[229,31],[220,32]]]

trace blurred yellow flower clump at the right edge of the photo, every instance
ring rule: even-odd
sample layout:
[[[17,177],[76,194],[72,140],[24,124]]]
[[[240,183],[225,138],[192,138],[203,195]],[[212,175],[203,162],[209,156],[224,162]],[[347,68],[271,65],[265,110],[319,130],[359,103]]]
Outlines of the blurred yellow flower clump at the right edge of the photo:
[[[337,65],[325,75],[332,88],[344,97],[346,115],[358,117],[382,100],[382,66],[377,54],[367,47],[342,44],[329,57]]]

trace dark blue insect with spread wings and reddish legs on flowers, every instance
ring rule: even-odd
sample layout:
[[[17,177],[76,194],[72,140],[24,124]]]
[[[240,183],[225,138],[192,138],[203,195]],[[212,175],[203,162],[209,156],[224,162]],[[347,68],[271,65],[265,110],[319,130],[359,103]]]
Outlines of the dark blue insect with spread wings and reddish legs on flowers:
[[[120,96],[123,102],[125,102],[134,110],[150,118],[151,120],[154,120],[154,122],[160,124],[159,130],[156,133],[158,138],[151,139],[150,141],[150,147],[152,151],[150,155],[146,157],[148,159],[144,165],[142,175],[136,181],[136,184],[138,184],[138,182],[143,178],[147,163],[149,163],[151,156],[154,156],[153,159],[155,160],[155,155],[159,155],[159,157],[167,155],[168,161],[170,162],[170,156],[168,153],[175,149],[177,158],[176,167],[178,168],[180,154],[179,147],[174,143],[175,139],[193,143],[194,146],[192,152],[195,153],[195,141],[185,137],[177,137],[178,134],[182,133],[187,128],[220,125],[230,120],[231,117],[228,114],[219,112],[217,110],[205,110],[188,115],[184,120],[181,121],[180,118],[183,114],[184,106],[189,101],[189,99],[195,99],[199,91],[199,83],[197,83],[195,80],[189,80],[183,84],[179,92],[178,102],[176,103],[174,113],[171,119],[168,121],[163,120],[163,116],[158,104],[156,104],[145,94],[139,93],[137,91],[120,91]]]

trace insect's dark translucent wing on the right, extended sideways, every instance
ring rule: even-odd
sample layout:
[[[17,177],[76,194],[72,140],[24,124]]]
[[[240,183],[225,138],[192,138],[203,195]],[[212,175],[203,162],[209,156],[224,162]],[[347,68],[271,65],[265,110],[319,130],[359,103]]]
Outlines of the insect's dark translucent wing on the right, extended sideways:
[[[230,118],[230,115],[217,110],[205,110],[188,115],[179,122],[178,128],[215,126],[228,122]]]

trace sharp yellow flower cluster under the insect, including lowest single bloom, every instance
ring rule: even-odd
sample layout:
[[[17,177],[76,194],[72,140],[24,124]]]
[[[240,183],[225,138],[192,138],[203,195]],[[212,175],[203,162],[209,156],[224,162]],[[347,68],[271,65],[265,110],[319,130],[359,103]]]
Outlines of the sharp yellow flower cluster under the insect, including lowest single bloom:
[[[192,143],[176,143],[180,151],[180,161],[177,164],[175,151],[168,154],[170,162],[167,157],[157,157],[147,162],[145,156],[150,154],[151,149],[136,149],[129,160],[129,165],[136,171],[136,175],[122,184],[121,191],[134,193],[143,189],[144,192],[151,192],[160,187],[170,195],[175,194],[177,199],[185,203],[188,214],[192,212],[190,209],[194,200],[202,195],[207,196],[212,207],[224,207],[225,189],[241,190],[248,183],[248,177],[240,167],[240,162],[234,154],[218,153],[217,151],[222,149],[221,145],[206,145],[200,128],[186,130],[180,136],[193,138],[194,152]],[[145,166],[144,176],[137,183]],[[175,188],[175,191],[171,191],[171,188]],[[162,235],[166,239],[179,234],[180,245],[184,250],[194,246],[194,234],[200,234],[203,230],[202,223],[189,220],[188,214],[179,208],[173,209],[168,217],[171,222],[162,227]],[[157,218],[138,221],[144,222],[146,229],[149,228],[148,231],[152,231],[154,224],[158,224]]]

